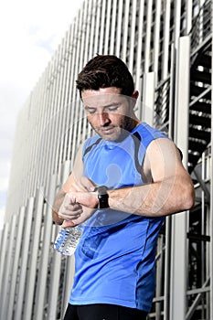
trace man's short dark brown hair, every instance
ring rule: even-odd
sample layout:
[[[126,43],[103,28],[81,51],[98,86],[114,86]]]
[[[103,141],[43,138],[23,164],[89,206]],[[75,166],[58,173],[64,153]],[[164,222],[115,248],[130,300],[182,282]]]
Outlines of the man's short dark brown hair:
[[[91,59],[80,72],[76,80],[77,89],[95,90],[116,87],[121,94],[132,96],[134,91],[133,77],[122,61],[113,55],[98,55]]]

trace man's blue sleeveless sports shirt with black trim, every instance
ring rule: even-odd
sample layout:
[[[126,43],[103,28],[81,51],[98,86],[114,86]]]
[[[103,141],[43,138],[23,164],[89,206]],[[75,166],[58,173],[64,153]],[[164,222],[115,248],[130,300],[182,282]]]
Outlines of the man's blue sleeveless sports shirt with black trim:
[[[120,143],[98,135],[83,147],[84,176],[109,188],[142,185],[148,145],[166,137],[146,123]],[[164,218],[97,210],[87,220],[75,252],[69,304],[119,304],[149,312],[155,290],[155,247]]]

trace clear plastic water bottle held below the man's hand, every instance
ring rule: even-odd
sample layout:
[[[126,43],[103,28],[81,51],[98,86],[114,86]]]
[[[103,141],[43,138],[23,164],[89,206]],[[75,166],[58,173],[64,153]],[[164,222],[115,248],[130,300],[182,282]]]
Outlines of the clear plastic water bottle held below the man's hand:
[[[80,241],[82,227],[61,228],[54,243],[54,249],[61,254],[71,256]]]

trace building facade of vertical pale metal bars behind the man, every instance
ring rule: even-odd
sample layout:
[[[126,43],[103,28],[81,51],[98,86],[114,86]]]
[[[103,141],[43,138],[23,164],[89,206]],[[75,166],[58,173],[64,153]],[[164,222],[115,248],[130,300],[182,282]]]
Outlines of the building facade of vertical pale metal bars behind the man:
[[[68,303],[73,258],[53,249],[51,205],[92,134],[75,80],[97,53],[126,62],[141,92],[138,117],[175,141],[196,189],[195,208],[160,232],[148,319],[212,319],[212,0],[84,1],[17,120],[0,318],[60,319]]]

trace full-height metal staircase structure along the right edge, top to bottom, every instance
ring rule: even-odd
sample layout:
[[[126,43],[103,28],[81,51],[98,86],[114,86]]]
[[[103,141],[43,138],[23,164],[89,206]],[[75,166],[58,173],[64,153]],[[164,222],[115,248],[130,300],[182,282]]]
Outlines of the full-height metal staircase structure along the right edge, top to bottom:
[[[191,32],[188,171],[194,180],[196,206],[191,210],[187,233],[186,320],[210,318],[211,12],[211,1],[206,1],[193,21]]]

